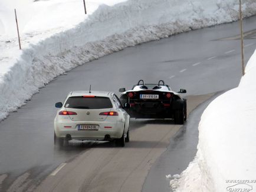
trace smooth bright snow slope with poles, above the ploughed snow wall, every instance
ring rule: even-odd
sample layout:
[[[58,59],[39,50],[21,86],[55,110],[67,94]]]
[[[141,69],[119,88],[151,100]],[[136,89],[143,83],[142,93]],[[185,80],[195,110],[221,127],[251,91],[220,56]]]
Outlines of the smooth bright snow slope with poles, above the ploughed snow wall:
[[[86,0],[87,13],[92,14],[101,4],[112,6],[123,1],[127,0]],[[22,35],[51,35],[73,28],[87,18],[83,0],[1,0],[0,36],[16,37],[14,8]]]

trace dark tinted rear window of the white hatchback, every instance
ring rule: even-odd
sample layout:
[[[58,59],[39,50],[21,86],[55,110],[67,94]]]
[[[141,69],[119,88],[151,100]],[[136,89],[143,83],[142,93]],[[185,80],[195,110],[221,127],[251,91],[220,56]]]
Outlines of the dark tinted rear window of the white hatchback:
[[[80,108],[80,109],[103,109],[112,108],[113,105],[108,97],[70,97],[65,102],[66,108]]]

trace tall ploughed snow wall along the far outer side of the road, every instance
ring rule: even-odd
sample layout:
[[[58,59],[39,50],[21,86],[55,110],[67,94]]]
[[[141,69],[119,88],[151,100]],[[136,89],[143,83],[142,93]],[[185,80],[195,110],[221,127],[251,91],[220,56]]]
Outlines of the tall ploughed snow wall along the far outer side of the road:
[[[64,22],[56,23],[57,28],[44,25],[47,30],[42,31],[38,25],[40,21],[44,23],[48,9],[42,7],[41,15],[32,11],[38,23],[33,19],[26,23],[22,34],[23,51],[17,50],[15,38],[2,35],[0,120],[54,77],[85,62],[142,42],[238,19],[238,1],[233,0],[129,0],[113,5],[120,1],[104,1],[111,6],[97,3],[103,1],[88,1],[88,17],[76,27],[68,23],[70,29],[66,31],[67,28],[60,26]],[[36,3],[46,2],[58,2],[49,10],[58,10],[58,6],[68,3],[67,0]],[[35,4],[29,6],[34,8]],[[91,12],[90,7],[97,9]],[[244,16],[256,14],[255,0],[244,2],[243,8]],[[72,12],[76,12],[74,10]],[[62,15],[63,21],[65,15]],[[5,22],[2,21],[2,25],[6,26]],[[2,31],[6,32],[6,27]],[[10,39],[11,42],[6,42]]]

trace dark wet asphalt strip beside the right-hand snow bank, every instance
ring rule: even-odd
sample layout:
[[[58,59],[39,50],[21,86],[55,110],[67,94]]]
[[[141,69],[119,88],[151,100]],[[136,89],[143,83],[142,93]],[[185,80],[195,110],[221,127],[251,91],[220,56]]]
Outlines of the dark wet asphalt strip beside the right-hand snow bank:
[[[170,179],[166,178],[166,176],[169,174],[171,176],[180,174],[193,160],[198,145],[198,125],[200,122],[200,118],[198,117],[201,117],[211,101],[223,93],[218,92],[217,94],[211,95],[211,98],[202,102],[189,114],[187,123],[170,138],[168,149],[152,165],[143,184],[143,192],[170,191]],[[198,96],[198,99],[204,100],[206,96]]]

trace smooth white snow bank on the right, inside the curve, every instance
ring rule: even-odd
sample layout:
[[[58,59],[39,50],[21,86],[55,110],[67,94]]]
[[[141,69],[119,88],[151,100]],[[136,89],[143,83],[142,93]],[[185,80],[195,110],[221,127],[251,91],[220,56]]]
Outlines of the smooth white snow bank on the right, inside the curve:
[[[239,86],[216,98],[204,111],[198,153],[180,179],[170,181],[174,191],[256,189],[255,74],[256,51]]]

